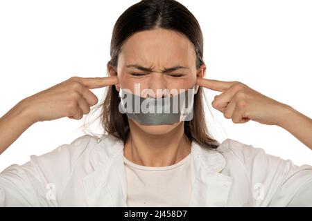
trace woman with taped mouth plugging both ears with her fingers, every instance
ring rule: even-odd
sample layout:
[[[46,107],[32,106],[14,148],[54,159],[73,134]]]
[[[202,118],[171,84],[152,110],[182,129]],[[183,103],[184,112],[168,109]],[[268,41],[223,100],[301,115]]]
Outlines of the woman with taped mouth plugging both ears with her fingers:
[[[234,123],[281,126],[309,148],[312,121],[240,82],[205,79],[202,32],[187,8],[173,0],[131,6],[116,21],[110,54],[110,77],[72,77],[1,117],[0,153],[35,122],[81,119],[98,103],[90,89],[109,87],[106,134],[9,166],[0,174],[1,206],[312,206],[312,166],[209,135],[202,87],[221,92],[212,104]],[[189,120],[121,112],[126,89],[144,102],[175,97],[157,89],[193,88]]]

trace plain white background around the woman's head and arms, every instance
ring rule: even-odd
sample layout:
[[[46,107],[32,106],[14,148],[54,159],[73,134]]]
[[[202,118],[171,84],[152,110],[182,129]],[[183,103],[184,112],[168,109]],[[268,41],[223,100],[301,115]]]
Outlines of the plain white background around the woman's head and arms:
[[[312,1],[180,2],[202,26],[207,77],[242,81],[312,116]],[[105,76],[112,28],[133,3],[0,1],[0,115],[71,76]],[[93,92],[103,99],[103,88]],[[210,104],[218,93],[206,92]],[[213,117],[206,111],[208,126],[219,141],[232,138],[295,164],[312,164],[312,151],[283,128],[233,124],[211,111]],[[62,118],[34,124],[0,155],[0,171],[69,144],[84,135],[83,122]]]

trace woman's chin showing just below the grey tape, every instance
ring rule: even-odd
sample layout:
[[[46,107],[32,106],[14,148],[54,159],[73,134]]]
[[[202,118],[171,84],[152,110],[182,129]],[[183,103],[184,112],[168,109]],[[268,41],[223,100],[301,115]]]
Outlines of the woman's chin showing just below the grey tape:
[[[182,124],[182,122],[177,122],[175,124],[143,125],[143,124],[139,124],[138,122],[136,122],[132,119],[129,119],[129,121],[132,124],[135,124],[135,126],[140,128],[142,131],[144,131],[145,133],[148,133],[150,135],[164,135],[166,133],[173,131],[173,129],[177,128],[177,126],[179,126],[179,124]]]

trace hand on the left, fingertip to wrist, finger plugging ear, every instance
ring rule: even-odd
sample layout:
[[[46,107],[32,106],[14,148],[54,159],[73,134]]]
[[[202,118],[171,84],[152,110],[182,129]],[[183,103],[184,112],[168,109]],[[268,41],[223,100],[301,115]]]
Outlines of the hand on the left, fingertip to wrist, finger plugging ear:
[[[82,119],[90,108],[98,103],[98,98],[89,89],[103,88],[118,84],[114,77],[71,77],[51,88],[42,90],[22,103],[28,108],[33,123],[69,117]]]

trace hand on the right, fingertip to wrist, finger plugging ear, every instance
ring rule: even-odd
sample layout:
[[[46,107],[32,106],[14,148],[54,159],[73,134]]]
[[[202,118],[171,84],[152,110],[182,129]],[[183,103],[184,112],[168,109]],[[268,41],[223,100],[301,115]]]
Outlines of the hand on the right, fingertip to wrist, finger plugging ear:
[[[238,81],[216,81],[198,78],[197,84],[222,92],[214,97],[212,106],[235,124],[253,120],[261,124],[278,125],[288,106],[266,97]]]

